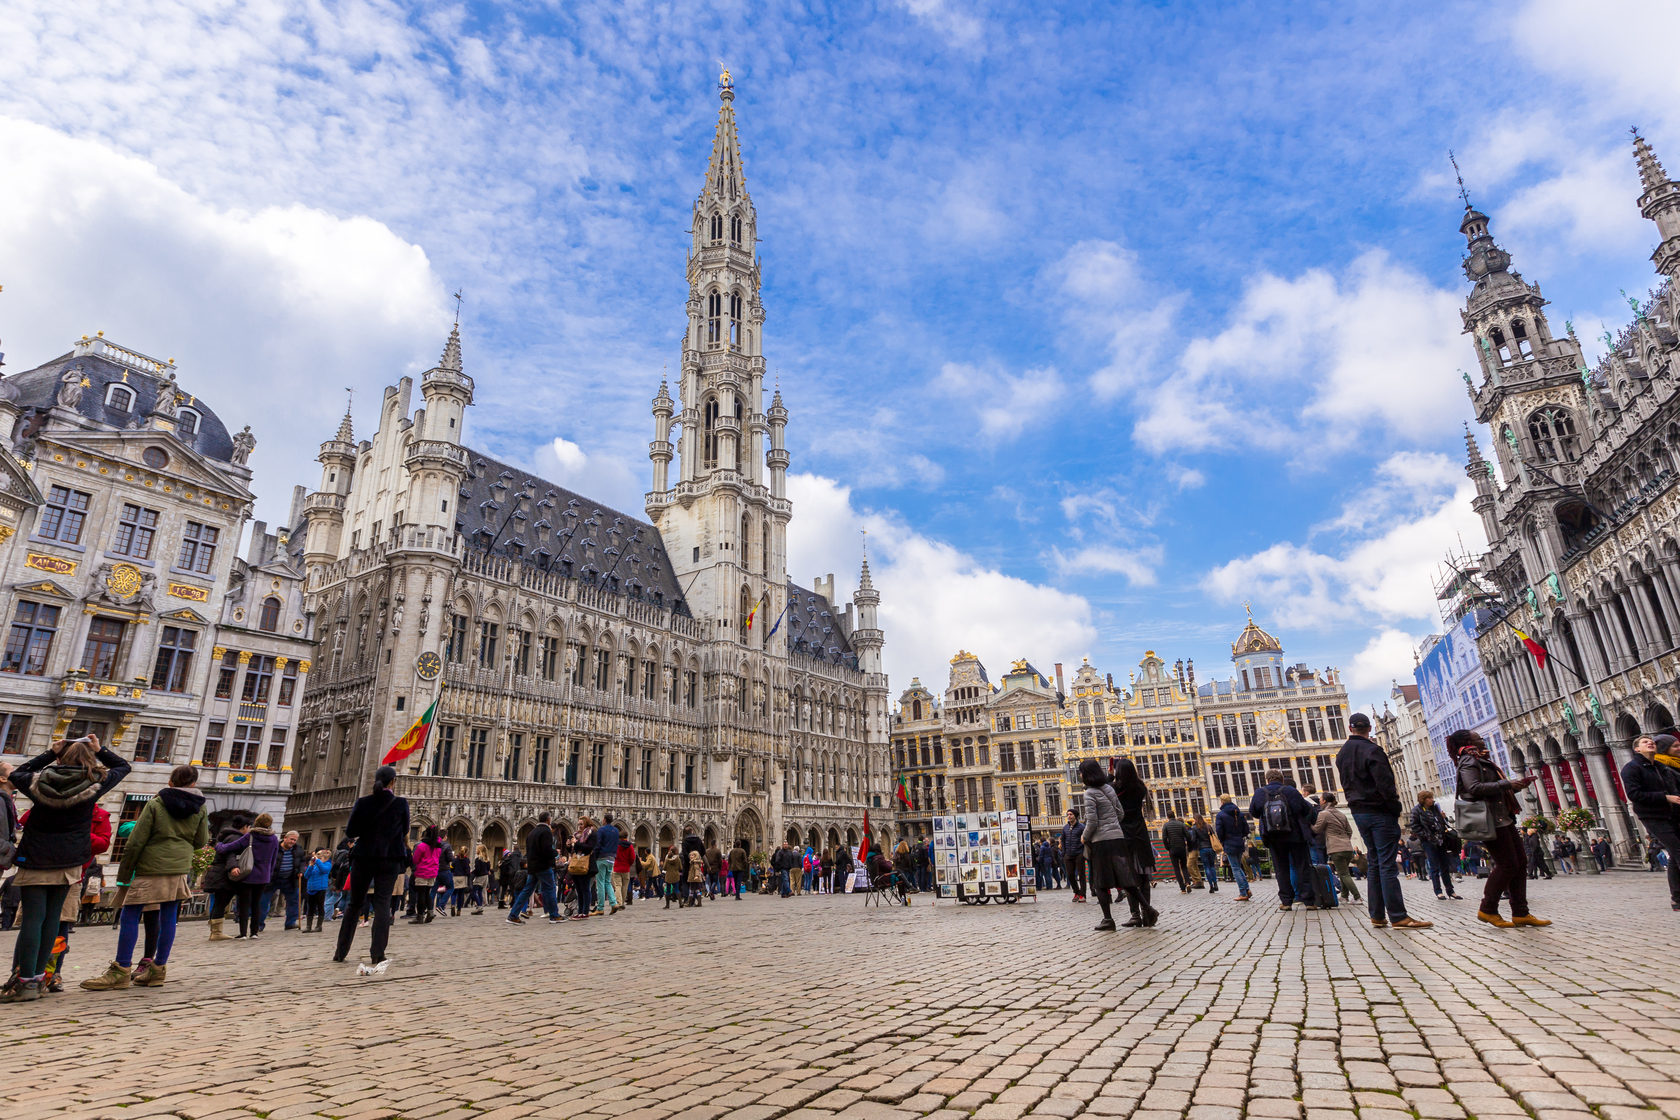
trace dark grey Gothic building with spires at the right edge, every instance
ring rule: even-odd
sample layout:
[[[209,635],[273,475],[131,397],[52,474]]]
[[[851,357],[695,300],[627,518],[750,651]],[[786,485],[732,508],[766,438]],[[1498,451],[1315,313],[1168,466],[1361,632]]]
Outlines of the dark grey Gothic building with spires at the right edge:
[[[1480,373],[1463,376],[1495,460],[1467,438],[1488,539],[1477,574],[1510,623],[1478,631],[1480,660],[1512,769],[1542,779],[1529,808],[1591,809],[1625,858],[1641,833],[1616,771],[1680,702],[1680,183],[1638,134],[1633,154],[1662,282],[1630,297],[1631,322],[1604,334],[1593,368],[1569,324],[1552,334],[1539,285],[1510,269],[1487,215],[1467,201],[1460,223]],[[1546,646],[1544,668],[1517,626]]]

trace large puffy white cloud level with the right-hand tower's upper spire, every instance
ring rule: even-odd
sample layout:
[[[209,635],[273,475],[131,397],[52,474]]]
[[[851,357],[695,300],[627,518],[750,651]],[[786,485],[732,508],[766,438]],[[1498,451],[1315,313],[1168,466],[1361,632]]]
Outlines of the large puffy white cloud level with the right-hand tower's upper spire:
[[[1137,438],[1156,452],[1262,447],[1309,455],[1369,432],[1426,442],[1462,411],[1457,292],[1383,252],[1344,275],[1260,275],[1230,322],[1193,339],[1144,398]],[[1404,385],[1398,393],[1394,386]]]

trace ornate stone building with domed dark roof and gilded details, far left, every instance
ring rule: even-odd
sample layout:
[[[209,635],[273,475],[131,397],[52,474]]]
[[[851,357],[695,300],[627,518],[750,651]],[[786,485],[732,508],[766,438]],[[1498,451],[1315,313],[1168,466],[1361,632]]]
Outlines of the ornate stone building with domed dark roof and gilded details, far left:
[[[212,813],[284,816],[314,631],[284,532],[239,556],[254,445],[102,336],[0,381],[0,744],[97,734],[136,762],[113,819],[180,762]]]

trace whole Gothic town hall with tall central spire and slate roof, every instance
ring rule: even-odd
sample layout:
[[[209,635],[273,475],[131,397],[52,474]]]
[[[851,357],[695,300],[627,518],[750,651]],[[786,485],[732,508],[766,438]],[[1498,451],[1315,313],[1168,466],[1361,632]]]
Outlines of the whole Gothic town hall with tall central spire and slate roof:
[[[321,657],[292,814],[343,828],[380,757],[433,702],[403,764],[417,824],[517,841],[613,813],[638,846],[694,831],[759,850],[855,845],[889,796],[887,677],[867,561],[786,578],[788,411],[763,408],[756,212],[722,104],[694,203],[679,400],[654,398],[647,521],[462,443],[477,391],[459,329],[388,388],[371,440],[349,418],[304,502]],[[675,420],[674,420],[675,418]],[[680,423],[680,443],[670,440]],[[672,458],[679,475],[670,479]],[[875,841],[890,846],[890,813]]]

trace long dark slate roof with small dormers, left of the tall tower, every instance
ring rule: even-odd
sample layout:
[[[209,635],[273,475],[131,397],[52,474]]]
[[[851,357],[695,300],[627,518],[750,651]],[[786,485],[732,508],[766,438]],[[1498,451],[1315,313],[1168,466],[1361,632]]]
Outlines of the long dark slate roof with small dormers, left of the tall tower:
[[[470,547],[689,613],[659,529],[482,452],[464,450],[469,467],[455,505],[455,532]]]

